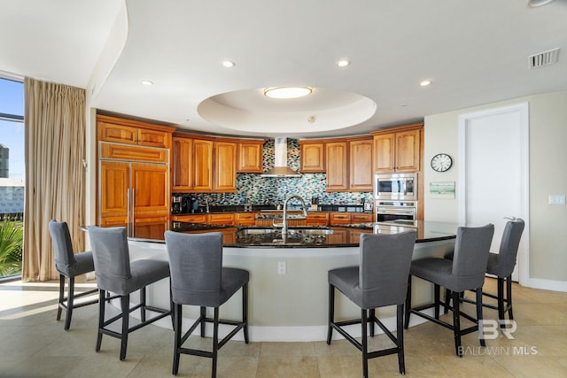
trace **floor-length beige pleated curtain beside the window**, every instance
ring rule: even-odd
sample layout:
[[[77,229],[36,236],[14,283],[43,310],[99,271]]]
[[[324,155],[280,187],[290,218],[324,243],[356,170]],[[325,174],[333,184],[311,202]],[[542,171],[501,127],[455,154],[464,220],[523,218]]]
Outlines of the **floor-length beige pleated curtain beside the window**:
[[[26,78],[26,196],[22,280],[58,278],[48,223],[66,221],[84,247],[85,91]]]

